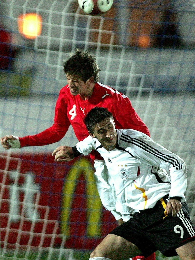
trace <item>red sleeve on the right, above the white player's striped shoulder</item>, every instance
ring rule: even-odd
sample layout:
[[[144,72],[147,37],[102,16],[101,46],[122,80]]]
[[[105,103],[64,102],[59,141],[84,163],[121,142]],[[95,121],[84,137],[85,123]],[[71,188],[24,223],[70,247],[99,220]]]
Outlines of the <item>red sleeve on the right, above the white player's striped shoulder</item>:
[[[110,106],[110,112],[114,116],[114,121],[117,129],[134,129],[150,136],[149,129],[142,121],[142,119],[135,112],[131,101],[123,94],[112,96],[113,101]]]

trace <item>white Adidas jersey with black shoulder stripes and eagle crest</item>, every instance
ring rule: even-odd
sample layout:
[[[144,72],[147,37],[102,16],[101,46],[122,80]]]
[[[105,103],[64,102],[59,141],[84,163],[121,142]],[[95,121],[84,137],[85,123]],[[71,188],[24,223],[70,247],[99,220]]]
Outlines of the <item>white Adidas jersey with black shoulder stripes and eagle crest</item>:
[[[152,208],[167,194],[169,198],[181,197],[181,202],[184,202],[187,186],[185,162],[144,133],[133,129],[116,131],[118,143],[112,151],[108,152],[91,136],[76,145],[79,153],[87,155],[97,150],[105,160],[118,201],[116,210],[129,215]],[[129,209],[128,212],[125,208]]]

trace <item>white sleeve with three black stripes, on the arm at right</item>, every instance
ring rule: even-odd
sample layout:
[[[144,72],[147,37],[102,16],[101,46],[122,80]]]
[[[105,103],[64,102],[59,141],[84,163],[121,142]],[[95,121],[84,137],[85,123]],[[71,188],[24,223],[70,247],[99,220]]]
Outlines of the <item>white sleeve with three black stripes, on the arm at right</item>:
[[[134,156],[141,164],[164,168],[171,176],[170,197],[181,197],[185,201],[184,193],[187,187],[187,167],[183,159],[157,144],[149,137],[133,138]]]

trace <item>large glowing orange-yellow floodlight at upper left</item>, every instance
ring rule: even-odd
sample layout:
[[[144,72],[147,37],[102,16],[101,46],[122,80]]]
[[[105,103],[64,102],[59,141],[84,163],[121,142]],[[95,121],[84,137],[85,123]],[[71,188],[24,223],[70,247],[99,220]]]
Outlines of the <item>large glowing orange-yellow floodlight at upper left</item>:
[[[21,14],[18,16],[18,30],[27,39],[35,39],[41,34],[42,17],[36,13]]]

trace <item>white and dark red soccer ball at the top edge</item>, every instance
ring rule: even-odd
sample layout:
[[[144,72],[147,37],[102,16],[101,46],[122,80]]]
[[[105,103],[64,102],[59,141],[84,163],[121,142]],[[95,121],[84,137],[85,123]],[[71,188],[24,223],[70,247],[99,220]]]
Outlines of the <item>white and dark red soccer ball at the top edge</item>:
[[[78,3],[86,15],[101,15],[111,8],[113,0],[78,0]]]

